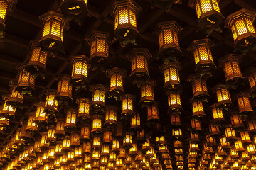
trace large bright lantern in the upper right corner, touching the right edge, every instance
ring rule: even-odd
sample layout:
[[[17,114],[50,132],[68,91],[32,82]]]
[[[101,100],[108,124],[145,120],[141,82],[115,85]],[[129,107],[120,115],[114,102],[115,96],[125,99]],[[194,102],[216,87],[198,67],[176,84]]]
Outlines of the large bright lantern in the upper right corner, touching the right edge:
[[[247,9],[241,9],[227,16],[226,26],[232,31],[236,49],[243,50],[255,45],[254,19],[255,12]]]

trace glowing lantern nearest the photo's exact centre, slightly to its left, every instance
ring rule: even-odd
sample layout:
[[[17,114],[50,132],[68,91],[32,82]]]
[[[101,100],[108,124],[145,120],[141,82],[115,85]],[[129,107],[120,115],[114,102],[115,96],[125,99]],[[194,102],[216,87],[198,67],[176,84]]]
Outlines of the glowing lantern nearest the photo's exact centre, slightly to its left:
[[[110,78],[110,93],[120,94],[124,93],[123,79],[126,77],[127,71],[114,67],[106,71],[107,77]]]

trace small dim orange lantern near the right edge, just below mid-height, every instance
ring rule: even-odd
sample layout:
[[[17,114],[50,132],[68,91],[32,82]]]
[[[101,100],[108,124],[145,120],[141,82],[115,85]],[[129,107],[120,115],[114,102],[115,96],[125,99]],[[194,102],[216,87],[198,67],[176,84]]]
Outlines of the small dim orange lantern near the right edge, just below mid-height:
[[[240,93],[238,95],[238,107],[239,107],[239,113],[245,113],[245,112],[252,111],[249,94]]]

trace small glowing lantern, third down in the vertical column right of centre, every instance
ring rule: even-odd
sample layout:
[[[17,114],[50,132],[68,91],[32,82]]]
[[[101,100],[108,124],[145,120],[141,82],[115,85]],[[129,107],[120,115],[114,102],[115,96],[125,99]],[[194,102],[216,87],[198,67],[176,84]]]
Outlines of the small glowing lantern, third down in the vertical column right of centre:
[[[179,111],[182,109],[180,94],[171,92],[168,96],[169,111]]]

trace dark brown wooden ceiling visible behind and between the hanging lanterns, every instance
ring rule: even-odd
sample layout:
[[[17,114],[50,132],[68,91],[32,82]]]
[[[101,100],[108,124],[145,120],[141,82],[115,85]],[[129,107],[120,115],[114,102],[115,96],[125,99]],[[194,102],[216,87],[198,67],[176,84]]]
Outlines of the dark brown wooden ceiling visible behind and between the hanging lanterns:
[[[57,89],[57,81],[55,78],[60,74],[70,74],[70,57],[73,55],[90,55],[90,47],[86,42],[86,38],[93,30],[100,30],[109,32],[112,35],[112,42],[110,43],[110,61],[111,64],[107,67],[111,68],[119,66],[127,69],[130,72],[130,62],[125,58],[129,48],[122,48],[117,40],[113,40],[114,34],[114,18],[112,16],[112,4],[114,0],[88,0],[88,8],[90,16],[85,18],[82,25],[78,25],[75,21],[70,21],[70,29],[64,32],[64,48],[65,52],[58,52],[55,57],[49,57],[47,62],[47,73],[45,78],[38,77],[36,79],[36,90],[33,96],[24,97],[23,108],[18,108],[15,118],[10,120],[9,128],[6,128],[0,133],[1,147],[6,144],[14,135],[16,129],[28,118],[28,113],[33,108],[37,101],[45,98],[44,92],[46,89]],[[40,40],[42,34],[41,23],[38,16],[41,16],[47,11],[58,11],[59,0],[18,0],[14,12],[8,13],[6,17],[6,33],[5,38],[0,40],[0,94],[10,93],[10,81],[16,81],[18,78],[18,67],[22,63],[27,63],[29,60],[28,46],[31,40]],[[193,40],[206,38],[206,35],[198,31],[196,28],[197,18],[196,11],[188,7],[188,0],[182,0],[182,4],[174,4],[169,11],[164,8],[154,8],[149,1],[137,0],[137,4],[142,7],[141,13],[137,18],[137,26],[139,30],[139,39],[137,47],[148,48],[153,56],[149,60],[149,74],[151,79],[155,79],[158,86],[154,89],[156,101],[159,103],[159,114],[163,126],[166,126],[165,132],[171,132],[169,128],[169,116],[166,115],[167,110],[167,96],[164,95],[164,77],[159,70],[161,61],[157,60],[159,52],[159,41],[156,35],[153,34],[157,23],[163,21],[175,20],[181,25],[183,30],[178,35],[180,47],[183,52],[181,57],[182,69],[180,72],[181,85],[183,87],[183,94],[181,100],[184,111],[181,115],[183,123],[184,139],[188,139],[188,128],[191,118],[191,103],[192,97],[191,84],[186,80],[190,74],[194,73],[194,60],[191,53],[186,49]],[[230,13],[247,8],[256,11],[255,0],[220,0],[220,11],[223,16],[228,16]],[[208,37],[215,43],[212,49],[213,60],[218,64],[218,58],[223,57],[229,53],[234,52],[233,37],[230,30],[223,28],[222,32],[213,32]],[[239,53],[239,52],[238,52]],[[256,52],[250,51],[247,55],[242,57],[241,69],[256,64]],[[93,81],[97,82],[99,77],[95,74]],[[107,85],[107,79],[102,77]],[[225,82],[223,70],[218,68],[213,77],[208,79],[208,89],[211,89],[215,84]],[[139,89],[137,86],[130,84],[129,80],[124,86],[126,92],[137,94],[139,98]],[[246,86],[247,88],[247,86]],[[246,89],[245,88],[245,89]],[[236,93],[234,91],[233,93]],[[209,105],[216,102],[215,94],[211,92]],[[211,112],[209,111],[209,120]],[[167,118],[166,118],[167,117]],[[207,125],[205,125],[207,127]],[[208,130],[208,128],[206,128]],[[205,137],[203,137],[204,140]],[[188,140],[183,141],[188,151]],[[171,145],[171,144],[170,144]]]

